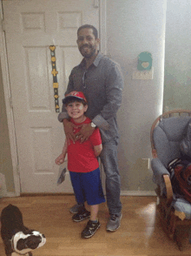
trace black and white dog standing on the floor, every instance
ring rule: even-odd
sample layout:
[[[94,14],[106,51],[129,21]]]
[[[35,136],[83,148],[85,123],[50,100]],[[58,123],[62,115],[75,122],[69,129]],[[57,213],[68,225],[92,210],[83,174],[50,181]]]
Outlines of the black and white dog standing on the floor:
[[[32,256],[32,251],[46,243],[45,236],[23,226],[22,212],[8,205],[1,213],[1,236],[7,256]]]

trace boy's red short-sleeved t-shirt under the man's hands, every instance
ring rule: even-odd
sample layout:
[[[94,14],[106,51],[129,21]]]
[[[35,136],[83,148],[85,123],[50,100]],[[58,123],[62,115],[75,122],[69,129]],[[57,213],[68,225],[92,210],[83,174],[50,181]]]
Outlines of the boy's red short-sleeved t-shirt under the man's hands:
[[[76,125],[74,133],[80,131],[81,127],[78,125],[85,125],[91,123],[91,119],[86,118],[81,124],[76,123],[73,119],[70,120]],[[100,131],[95,128],[95,131],[87,141],[82,144],[77,140],[75,144],[70,140],[68,145],[68,169],[69,172],[92,172],[99,167],[97,158],[95,157],[94,146],[101,145],[102,139]]]

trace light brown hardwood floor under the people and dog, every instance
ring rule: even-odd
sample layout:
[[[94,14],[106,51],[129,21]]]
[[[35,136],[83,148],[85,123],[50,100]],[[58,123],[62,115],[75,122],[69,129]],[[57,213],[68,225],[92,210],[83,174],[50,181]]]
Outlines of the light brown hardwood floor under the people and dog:
[[[91,239],[80,236],[86,220],[71,220],[69,207],[76,203],[73,195],[3,198],[0,212],[10,203],[16,205],[23,213],[24,225],[45,234],[47,243],[36,249],[34,256],[190,256],[190,246],[180,252],[162,231],[155,201],[155,197],[122,197],[122,222],[116,232],[106,232],[109,213],[102,204],[101,228]],[[5,255],[2,239],[0,255]]]

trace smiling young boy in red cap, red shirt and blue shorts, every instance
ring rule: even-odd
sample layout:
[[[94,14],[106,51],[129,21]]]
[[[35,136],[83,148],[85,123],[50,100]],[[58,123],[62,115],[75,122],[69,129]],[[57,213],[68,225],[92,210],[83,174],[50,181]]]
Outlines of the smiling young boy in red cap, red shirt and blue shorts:
[[[66,105],[70,121],[74,124],[74,133],[80,131],[82,124],[89,124],[91,120],[84,113],[88,109],[88,103],[81,91],[72,91],[65,98],[63,104]],[[89,139],[83,143],[76,140],[73,143],[65,141],[63,152],[56,158],[56,165],[63,164],[66,153],[68,152],[68,169],[71,183],[76,195],[79,211],[73,215],[72,219],[76,222],[83,219],[90,220],[82,231],[82,238],[92,237],[100,227],[97,219],[99,204],[105,202],[102,183],[100,179],[100,169],[97,157],[102,152],[102,139],[100,131],[95,128]],[[90,205],[90,212],[86,210],[84,202]]]

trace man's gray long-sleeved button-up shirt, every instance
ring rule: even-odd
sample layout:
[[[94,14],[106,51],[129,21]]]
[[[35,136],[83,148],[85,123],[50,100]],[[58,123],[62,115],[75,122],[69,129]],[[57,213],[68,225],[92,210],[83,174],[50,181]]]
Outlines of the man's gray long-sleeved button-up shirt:
[[[88,100],[86,116],[99,127],[102,142],[118,138],[116,112],[122,104],[123,77],[119,64],[109,57],[98,53],[93,64],[86,70],[85,61],[77,65],[69,75],[67,91],[82,91]],[[63,111],[58,115],[60,122],[68,114]]]

